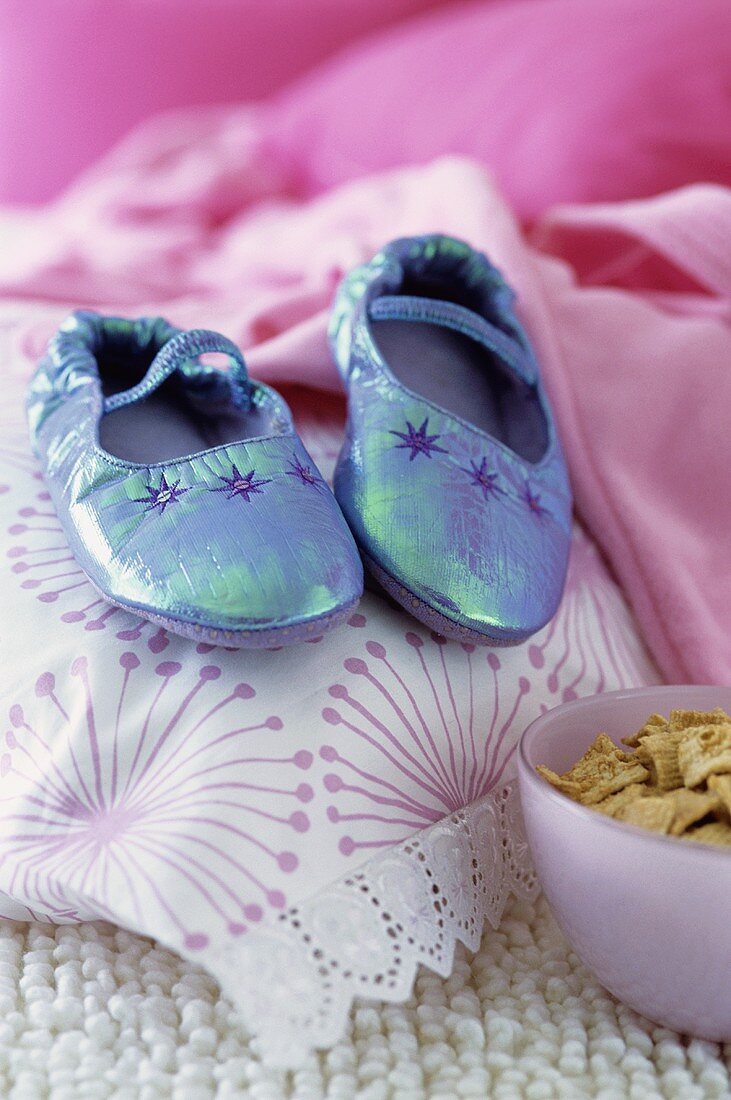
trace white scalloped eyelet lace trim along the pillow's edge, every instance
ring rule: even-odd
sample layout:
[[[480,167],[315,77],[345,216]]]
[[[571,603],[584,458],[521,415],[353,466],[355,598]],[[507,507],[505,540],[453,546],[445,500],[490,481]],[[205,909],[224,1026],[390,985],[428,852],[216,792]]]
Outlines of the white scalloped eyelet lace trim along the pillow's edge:
[[[446,977],[457,939],[476,949],[511,893],[536,893],[517,787],[375,856],[210,959],[269,1065],[296,1068],[336,1043],[356,997],[407,1000],[420,963]]]

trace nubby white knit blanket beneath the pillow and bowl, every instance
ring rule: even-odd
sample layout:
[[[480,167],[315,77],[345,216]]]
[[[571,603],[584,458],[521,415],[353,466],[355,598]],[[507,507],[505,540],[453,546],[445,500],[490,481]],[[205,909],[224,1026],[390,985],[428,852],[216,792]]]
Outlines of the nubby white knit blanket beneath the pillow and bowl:
[[[215,982],[103,924],[0,922],[0,1096],[8,1100],[705,1100],[731,1098],[731,1045],[625,1009],[547,911],[514,902],[444,980],[406,1004],[359,1002],[296,1074],[257,1057]]]

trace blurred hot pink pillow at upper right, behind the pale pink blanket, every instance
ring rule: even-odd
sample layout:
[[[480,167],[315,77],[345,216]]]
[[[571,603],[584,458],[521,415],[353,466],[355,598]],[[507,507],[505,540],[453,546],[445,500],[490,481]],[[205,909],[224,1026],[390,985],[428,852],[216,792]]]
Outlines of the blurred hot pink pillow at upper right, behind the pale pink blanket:
[[[726,0],[462,3],[286,90],[273,139],[315,190],[462,153],[532,219],[554,202],[731,184],[730,72]]]

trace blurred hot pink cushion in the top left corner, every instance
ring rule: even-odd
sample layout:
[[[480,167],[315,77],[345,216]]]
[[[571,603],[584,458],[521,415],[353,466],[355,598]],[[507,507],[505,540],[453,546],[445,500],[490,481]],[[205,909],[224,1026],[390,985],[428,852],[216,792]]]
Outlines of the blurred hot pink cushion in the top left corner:
[[[55,197],[154,111],[264,98],[438,3],[2,0],[0,202]]]

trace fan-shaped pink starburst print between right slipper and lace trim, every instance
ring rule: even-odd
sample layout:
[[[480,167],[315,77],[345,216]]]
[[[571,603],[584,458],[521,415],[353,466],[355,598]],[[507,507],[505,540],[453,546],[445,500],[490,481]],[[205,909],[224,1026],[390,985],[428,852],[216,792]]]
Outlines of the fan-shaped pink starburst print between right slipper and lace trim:
[[[345,682],[330,688],[336,705],[322,712],[339,727],[320,750],[333,766],[324,779],[336,796],[329,817],[374,834],[346,832],[344,855],[402,840],[499,782],[514,750],[507,735],[531,691],[520,676],[501,698],[496,653],[435,634],[409,630],[394,646],[369,640],[365,650],[367,660],[345,660]],[[370,747],[372,766],[348,751],[351,738]]]

